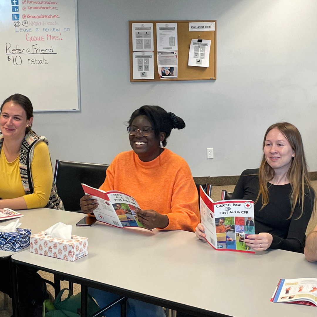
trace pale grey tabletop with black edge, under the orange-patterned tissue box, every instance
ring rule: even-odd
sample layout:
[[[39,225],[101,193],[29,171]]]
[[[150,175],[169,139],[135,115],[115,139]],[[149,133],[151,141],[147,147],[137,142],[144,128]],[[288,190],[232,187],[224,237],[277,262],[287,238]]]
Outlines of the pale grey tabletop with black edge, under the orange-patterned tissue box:
[[[14,262],[61,272],[82,285],[197,316],[307,317],[317,313],[316,307],[270,302],[280,278],[317,278],[317,263],[307,262],[303,254],[216,251],[191,232],[140,232],[98,222],[75,227],[82,215],[42,212],[47,213],[47,220],[38,220],[37,231],[49,226],[40,225],[42,221],[73,224],[74,234],[88,237],[89,255],[67,262],[26,250],[13,255]],[[30,218],[38,218],[38,211],[28,211],[28,218],[29,213]]]

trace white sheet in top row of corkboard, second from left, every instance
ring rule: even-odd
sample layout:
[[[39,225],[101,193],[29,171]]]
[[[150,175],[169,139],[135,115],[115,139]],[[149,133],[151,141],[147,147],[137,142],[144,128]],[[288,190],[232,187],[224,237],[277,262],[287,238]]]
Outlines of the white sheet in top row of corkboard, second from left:
[[[178,51],[177,23],[156,23],[158,51]]]

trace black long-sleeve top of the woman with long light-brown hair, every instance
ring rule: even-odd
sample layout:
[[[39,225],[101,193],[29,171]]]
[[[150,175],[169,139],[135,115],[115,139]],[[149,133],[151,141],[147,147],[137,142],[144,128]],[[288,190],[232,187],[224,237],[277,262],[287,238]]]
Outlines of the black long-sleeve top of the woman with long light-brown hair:
[[[256,200],[259,192],[259,169],[245,170],[241,174],[232,199]],[[252,175],[253,174],[253,175]],[[255,233],[268,232],[273,236],[272,249],[304,252],[305,232],[314,207],[314,191],[305,188],[304,210],[297,202],[294,214],[291,214],[291,185],[273,185],[268,183],[268,204],[262,209],[262,196],[254,205]]]

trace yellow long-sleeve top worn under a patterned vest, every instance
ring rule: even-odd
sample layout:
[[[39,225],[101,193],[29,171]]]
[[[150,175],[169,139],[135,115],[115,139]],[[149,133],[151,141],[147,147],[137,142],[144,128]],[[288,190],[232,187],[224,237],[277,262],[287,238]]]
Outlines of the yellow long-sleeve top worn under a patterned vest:
[[[19,157],[20,155],[13,162],[8,162],[3,149],[1,149],[0,198],[10,199],[23,196],[28,209],[45,207],[49,201],[53,183],[49,147],[43,141],[37,142],[34,146],[34,154],[31,162],[33,194],[25,195],[20,176]]]

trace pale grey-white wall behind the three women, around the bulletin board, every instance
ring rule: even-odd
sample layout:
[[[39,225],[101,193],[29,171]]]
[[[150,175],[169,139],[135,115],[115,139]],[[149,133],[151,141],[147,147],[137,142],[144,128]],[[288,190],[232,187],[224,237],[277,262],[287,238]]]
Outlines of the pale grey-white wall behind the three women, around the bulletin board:
[[[123,123],[150,104],[184,119],[167,147],[193,176],[256,168],[265,130],[281,120],[299,128],[317,170],[315,0],[78,0],[78,15],[82,111],[34,118],[53,165],[110,163],[130,149]],[[131,83],[128,20],[190,19],[217,20],[217,80]]]

